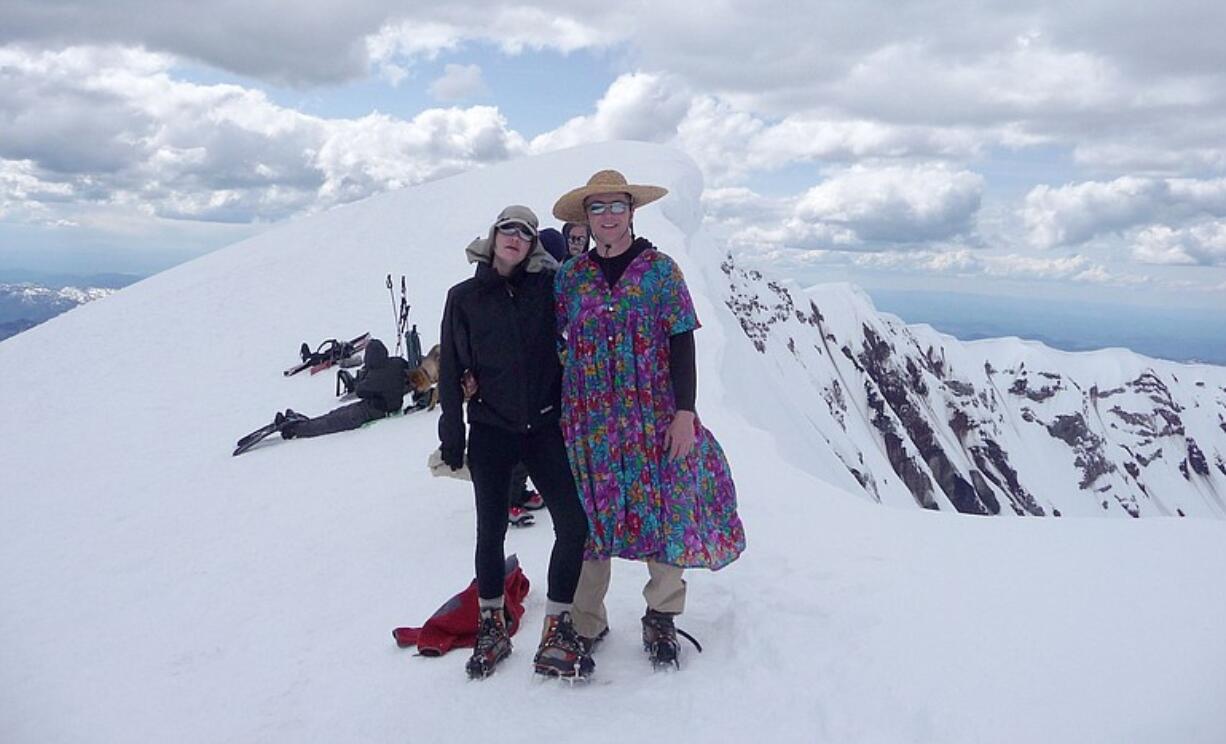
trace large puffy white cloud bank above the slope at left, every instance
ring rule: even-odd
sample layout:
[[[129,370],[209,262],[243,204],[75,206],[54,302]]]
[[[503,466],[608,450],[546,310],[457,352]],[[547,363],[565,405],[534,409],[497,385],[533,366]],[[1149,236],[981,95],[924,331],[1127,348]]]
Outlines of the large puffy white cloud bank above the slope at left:
[[[170,64],[109,48],[0,48],[5,191],[20,188],[40,205],[74,199],[164,217],[271,221],[525,150],[488,107],[322,119],[259,91],[175,81]]]

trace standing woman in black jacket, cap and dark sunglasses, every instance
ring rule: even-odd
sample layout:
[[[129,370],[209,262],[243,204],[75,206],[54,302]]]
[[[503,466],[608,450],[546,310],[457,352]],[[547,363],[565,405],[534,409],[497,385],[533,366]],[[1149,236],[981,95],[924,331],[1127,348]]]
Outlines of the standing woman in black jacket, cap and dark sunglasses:
[[[553,518],[544,631],[535,658],[538,674],[586,677],[593,663],[579,642],[570,609],[579,583],[587,516],[575,490],[558,424],[562,364],[553,304],[557,261],[541,246],[532,210],[503,210],[485,238],[468,245],[474,277],[447,293],[439,357],[439,440],[443,461],[472,473],[477,500],[477,590],[481,625],[468,659],[483,678],[511,652],[503,610],[503,541],[511,468],[522,462]],[[465,373],[477,393],[467,402]]]

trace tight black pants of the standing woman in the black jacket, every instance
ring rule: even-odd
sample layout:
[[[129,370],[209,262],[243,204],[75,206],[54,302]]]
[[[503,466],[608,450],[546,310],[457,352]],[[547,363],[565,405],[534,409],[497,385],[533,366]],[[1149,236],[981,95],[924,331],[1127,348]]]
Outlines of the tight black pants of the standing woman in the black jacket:
[[[468,430],[468,471],[477,494],[477,591],[483,599],[503,594],[503,541],[506,538],[508,488],[511,468],[522,462],[549,507],[553,552],[549,591],[554,602],[570,603],[579,585],[587,542],[587,515],[579,503],[566,445],[557,424],[532,434],[472,424]]]

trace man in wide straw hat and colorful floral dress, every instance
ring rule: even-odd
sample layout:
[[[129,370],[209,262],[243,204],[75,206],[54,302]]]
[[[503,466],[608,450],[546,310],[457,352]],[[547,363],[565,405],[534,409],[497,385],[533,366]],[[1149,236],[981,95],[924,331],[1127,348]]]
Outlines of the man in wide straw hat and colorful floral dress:
[[[634,234],[634,211],[664,194],[602,170],[559,199],[554,217],[587,223],[595,248],[562,267],[554,293],[562,427],[590,522],[575,628],[592,645],[608,631],[611,558],[646,561],[644,646],[676,666],[683,569],[721,569],[745,538],[732,472],[695,412],[699,322],[685,279]]]

